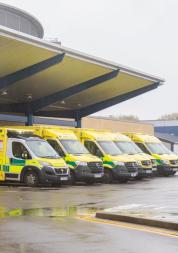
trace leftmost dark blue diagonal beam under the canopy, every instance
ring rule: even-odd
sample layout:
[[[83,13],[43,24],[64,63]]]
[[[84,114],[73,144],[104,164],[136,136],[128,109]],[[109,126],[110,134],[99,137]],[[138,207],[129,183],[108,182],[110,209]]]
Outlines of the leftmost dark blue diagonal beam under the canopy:
[[[1,77],[0,90],[5,89],[18,81],[21,81],[27,77],[33,76],[34,74],[37,74],[45,69],[48,69],[60,63],[63,60],[64,55],[65,55],[64,53],[55,55],[47,60],[41,61],[39,63],[36,63],[34,65],[31,65],[19,71],[16,71],[14,73]]]

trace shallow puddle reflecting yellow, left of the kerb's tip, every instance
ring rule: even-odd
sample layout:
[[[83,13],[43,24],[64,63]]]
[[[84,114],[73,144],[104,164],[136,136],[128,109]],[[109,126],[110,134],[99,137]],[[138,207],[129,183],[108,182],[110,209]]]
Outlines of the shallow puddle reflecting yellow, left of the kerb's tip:
[[[0,218],[18,217],[18,216],[36,216],[36,217],[76,217],[81,215],[94,215],[98,210],[95,207],[71,206],[66,208],[31,208],[31,209],[5,209],[0,208]]]

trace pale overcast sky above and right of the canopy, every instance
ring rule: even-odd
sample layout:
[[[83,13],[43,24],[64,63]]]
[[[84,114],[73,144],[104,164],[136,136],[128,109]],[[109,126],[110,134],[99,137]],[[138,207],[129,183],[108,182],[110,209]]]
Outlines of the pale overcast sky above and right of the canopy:
[[[5,0],[36,16],[45,37],[166,79],[164,86],[98,115],[156,119],[178,111],[177,0]]]

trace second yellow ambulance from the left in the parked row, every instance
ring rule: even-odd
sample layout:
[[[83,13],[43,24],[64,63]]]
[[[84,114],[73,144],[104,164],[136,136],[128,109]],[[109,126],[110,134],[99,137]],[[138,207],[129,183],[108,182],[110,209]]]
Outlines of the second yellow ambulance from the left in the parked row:
[[[41,136],[65,159],[70,169],[71,183],[102,182],[104,175],[102,160],[89,153],[71,129],[60,127],[34,127]]]

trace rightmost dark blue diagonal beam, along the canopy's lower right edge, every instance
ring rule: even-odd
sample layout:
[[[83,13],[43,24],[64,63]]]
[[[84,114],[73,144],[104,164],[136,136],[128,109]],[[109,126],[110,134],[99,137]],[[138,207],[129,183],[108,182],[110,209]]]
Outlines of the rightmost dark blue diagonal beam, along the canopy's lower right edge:
[[[141,94],[144,94],[144,93],[146,93],[148,91],[154,90],[158,86],[159,86],[159,83],[153,83],[153,84],[151,84],[149,86],[146,86],[146,87],[134,90],[134,91],[130,91],[130,92],[125,93],[123,95],[119,95],[119,96],[116,96],[114,98],[110,98],[108,100],[105,100],[105,101],[102,101],[102,102],[99,102],[99,103],[96,103],[96,104],[92,104],[90,106],[82,108],[78,112],[78,116],[80,118],[88,116],[88,115],[93,114],[93,113],[95,113],[97,111],[104,110],[107,107],[119,104],[119,103],[121,103],[123,101],[126,101],[128,99],[134,98],[134,97],[139,96]]]

